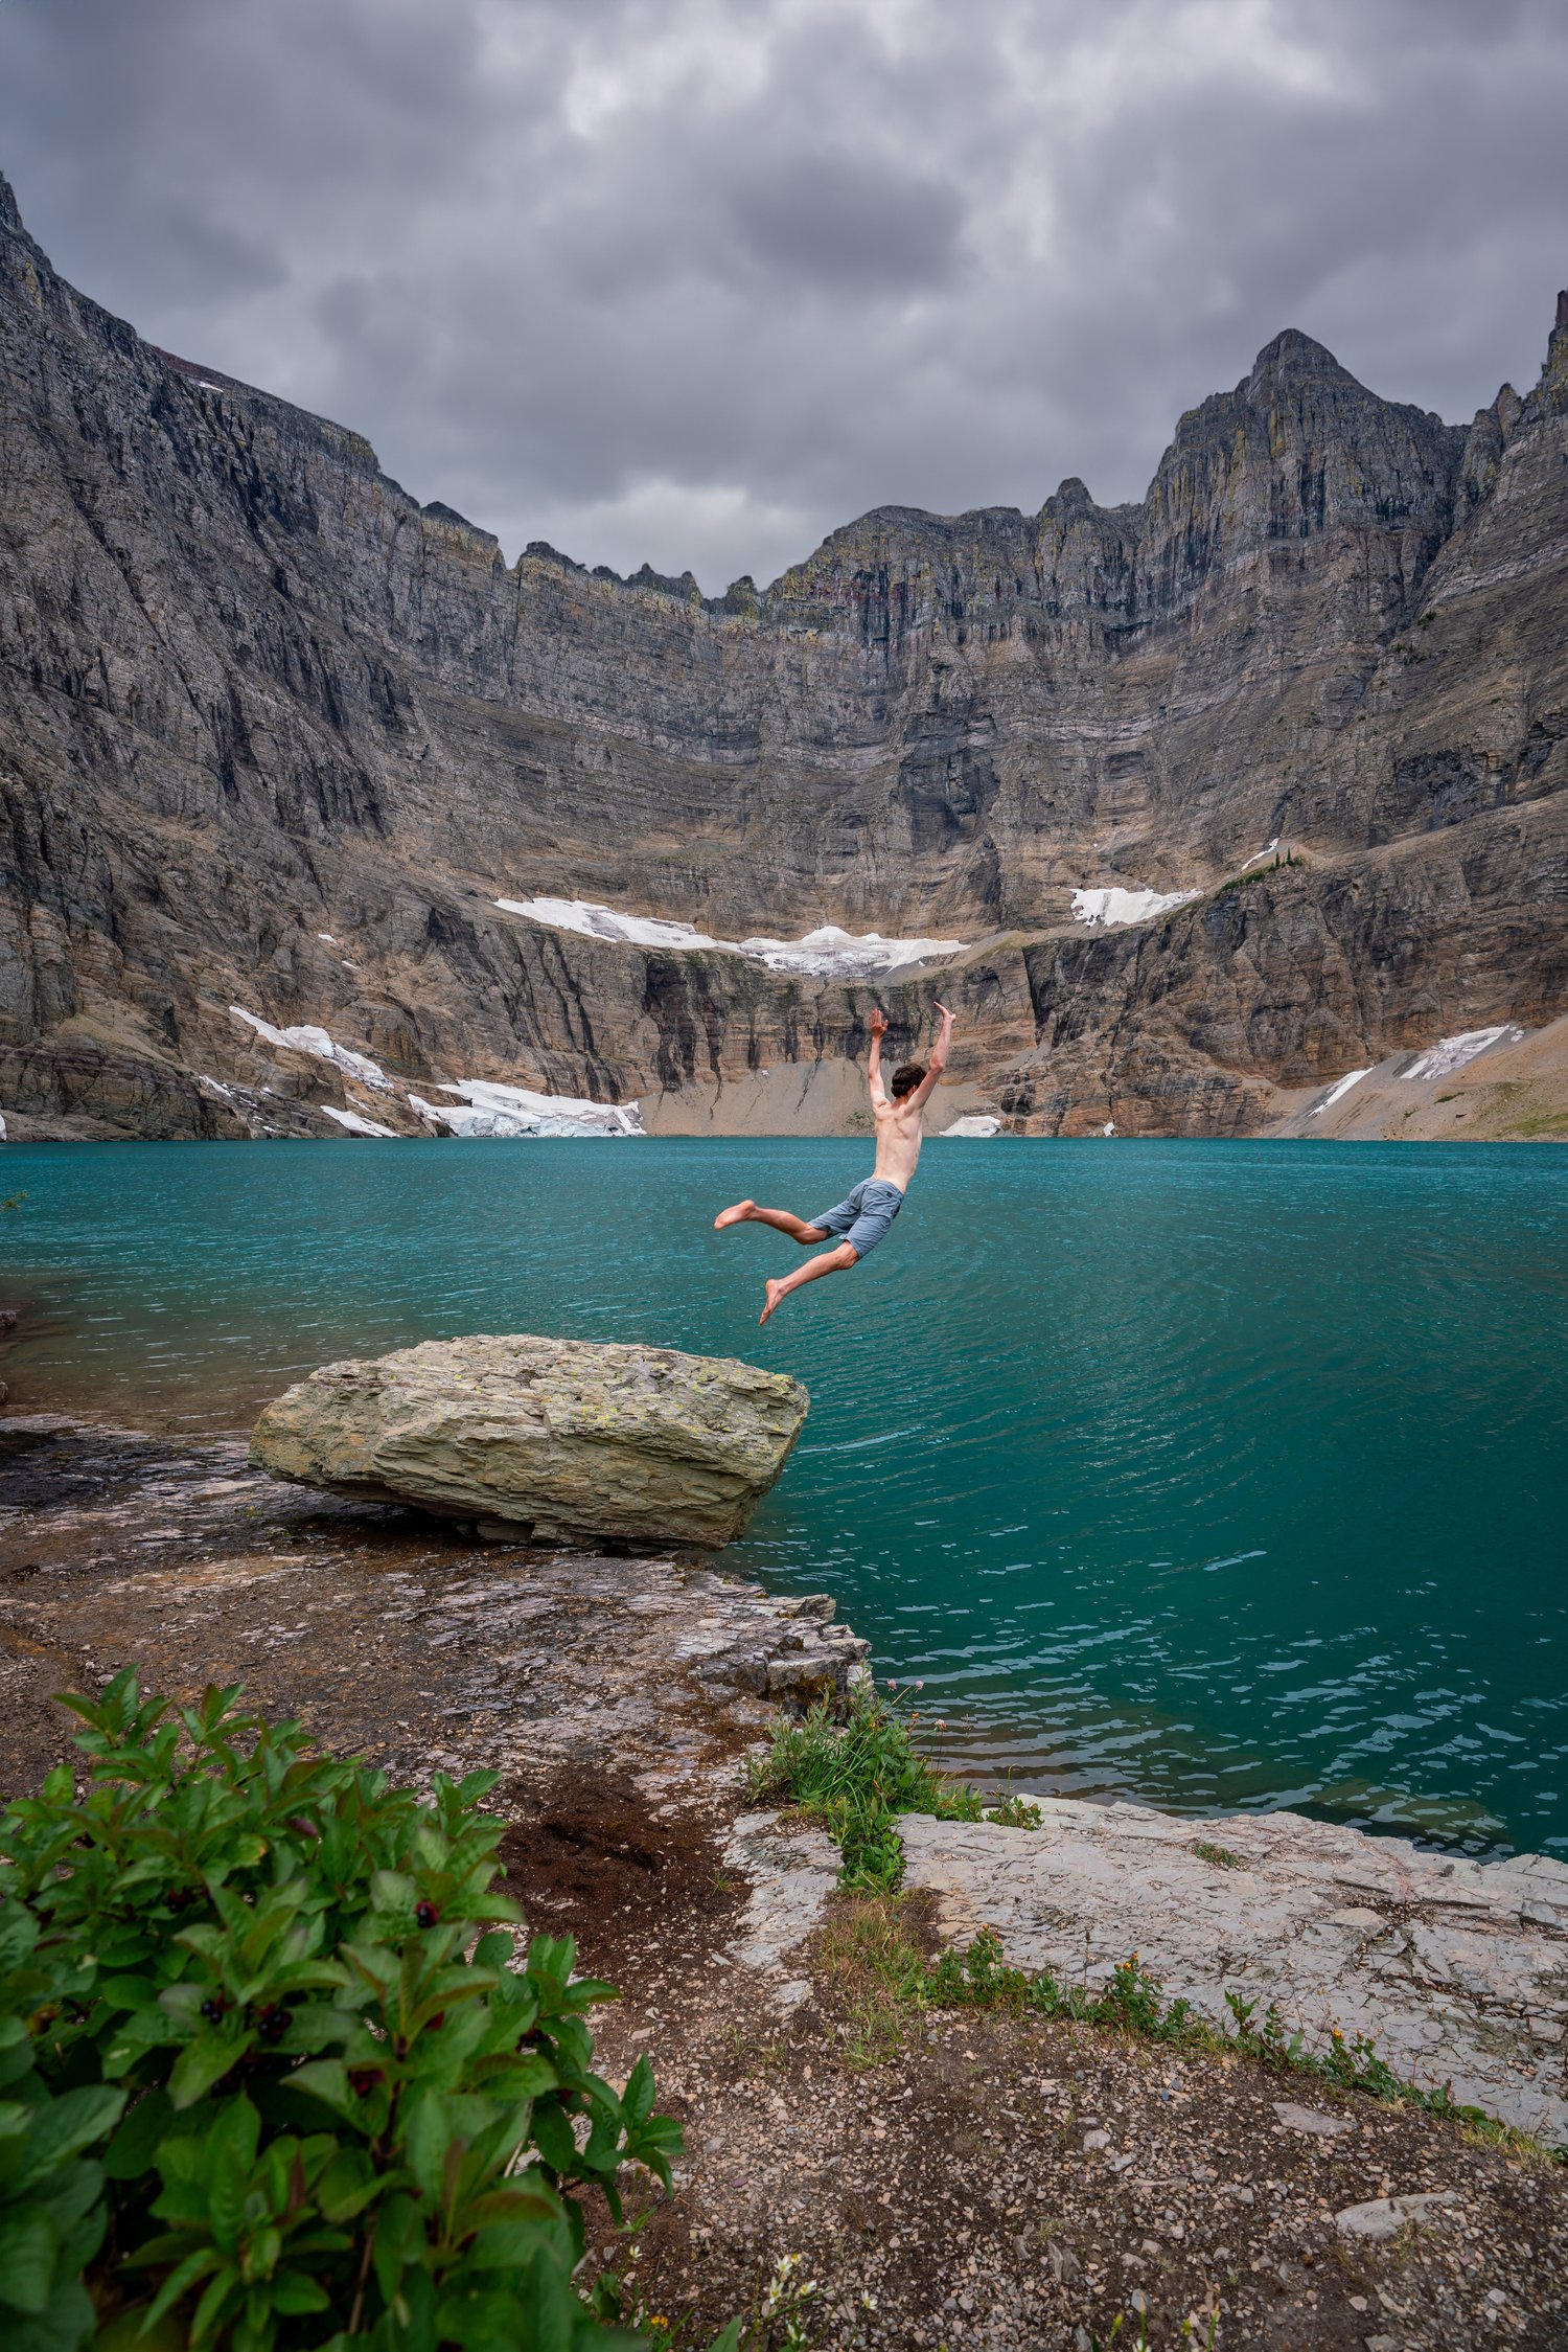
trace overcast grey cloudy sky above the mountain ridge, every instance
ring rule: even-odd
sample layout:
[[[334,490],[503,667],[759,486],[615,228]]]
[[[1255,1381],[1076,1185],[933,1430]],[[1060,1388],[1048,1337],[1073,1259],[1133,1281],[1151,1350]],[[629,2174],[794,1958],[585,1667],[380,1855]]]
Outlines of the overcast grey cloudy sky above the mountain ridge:
[[[0,0],[0,169],[146,336],[708,590],[1138,496],[1281,327],[1448,419],[1568,285],[1563,0]]]

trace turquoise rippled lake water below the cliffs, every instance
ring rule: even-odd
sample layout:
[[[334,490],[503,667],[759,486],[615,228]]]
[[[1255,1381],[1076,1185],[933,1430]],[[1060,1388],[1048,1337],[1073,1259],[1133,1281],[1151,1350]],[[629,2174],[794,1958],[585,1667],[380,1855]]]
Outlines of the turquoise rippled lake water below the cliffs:
[[[1568,1152],[933,1143],[865,1268],[865,1143],[7,1145],[12,1409],[240,1428],[458,1331],[811,1388],[726,1564],[830,1590],[950,1759],[1568,1853]]]

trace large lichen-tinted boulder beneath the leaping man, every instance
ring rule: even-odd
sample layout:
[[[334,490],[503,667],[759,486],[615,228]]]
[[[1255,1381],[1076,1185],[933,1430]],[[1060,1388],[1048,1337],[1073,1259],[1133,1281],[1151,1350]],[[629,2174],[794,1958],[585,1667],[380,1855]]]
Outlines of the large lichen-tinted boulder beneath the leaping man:
[[[574,1338],[447,1338],[322,1364],[268,1404],[252,1463],[487,1531],[717,1548],[802,1432],[799,1381]]]

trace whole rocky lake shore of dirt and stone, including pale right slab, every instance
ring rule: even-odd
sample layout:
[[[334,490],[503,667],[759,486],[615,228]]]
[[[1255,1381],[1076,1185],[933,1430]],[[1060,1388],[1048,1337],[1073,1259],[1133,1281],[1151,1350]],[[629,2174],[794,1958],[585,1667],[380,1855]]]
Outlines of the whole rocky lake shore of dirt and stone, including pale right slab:
[[[820,1830],[743,1785],[780,1700],[863,1672],[827,1595],[475,1543],[282,1486],[237,1439],[49,1416],[0,1425],[0,1590],[7,1790],[68,1755],[49,1693],[125,1663],[179,1696],[244,1682],[404,1780],[501,1773],[524,1905],[625,1992],[607,2065],[646,2046],[686,2122],[639,2241],[649,2312],[717,2324],[799,2253],[820,2345],[1072,2347],[1135,2298],[1154,2343],[1215,2300],[1234,2345],[1561,2343],[1568,2178],[1528,2152],[1070,2020],[924,2011],[858,2053],[867,1905]],[[1041,1811],[1039,1832],[905,1816],[900,1931],[936,1950],[990,1924],[1086,1980],[1135,1945],[1168,1992],[1265,1990],[1563,2136],[1561,1865],[1293,1816]]]

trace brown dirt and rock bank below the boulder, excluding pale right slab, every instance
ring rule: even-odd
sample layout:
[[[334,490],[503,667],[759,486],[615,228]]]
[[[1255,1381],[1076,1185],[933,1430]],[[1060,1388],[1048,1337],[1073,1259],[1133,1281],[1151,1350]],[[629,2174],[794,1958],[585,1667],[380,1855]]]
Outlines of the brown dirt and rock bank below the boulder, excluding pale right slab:
[[[675,2194],[635,2199],[628,2300],[661,2340],[745,2312],[769,2352],[1088,2352],[1117,2324],[1222,2352],[1568,2352],[1563,2169],[1253,2060],[879,2006],[865,1955],[929,1945],[914,1905],[835,1896],[790,1983],[748,1966],[733,1823],[769,1710],[715,1696],[698,1651],[766,1606],[712,1571],[496,1552],[282,1489],[235,1444],[0,1423],[0,1788],[66,1752],[52,1691],[132,1661],[179,1693],[242,1677],[411,1780],[496,1769],[529,1922],[623,1992],[602,2070],[646,2049],[686,2129]],[[1413,2194],[1448,2201],[1382,2237],[1338,2218]],[[602,2227],[595,2251],[625,2270]]]

